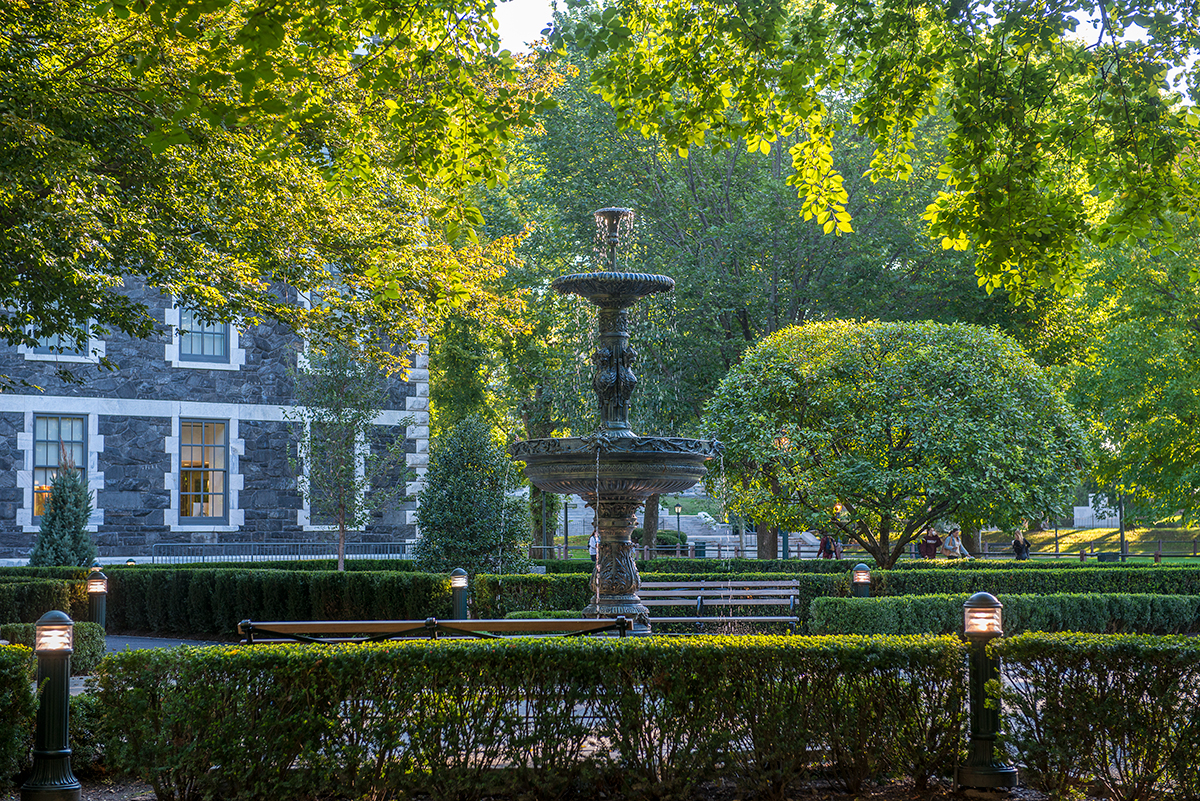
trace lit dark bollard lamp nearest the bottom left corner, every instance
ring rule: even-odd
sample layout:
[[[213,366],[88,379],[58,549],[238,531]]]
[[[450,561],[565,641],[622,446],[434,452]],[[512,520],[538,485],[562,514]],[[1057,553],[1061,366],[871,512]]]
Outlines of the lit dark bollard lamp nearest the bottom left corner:
[[[37,723],[34,728],[34,770],[20,787],[20,801],[79,801],[79,779],[71,772],[67,736],[71,700],[71,652],[74,622],[61,612],[37,621]]]

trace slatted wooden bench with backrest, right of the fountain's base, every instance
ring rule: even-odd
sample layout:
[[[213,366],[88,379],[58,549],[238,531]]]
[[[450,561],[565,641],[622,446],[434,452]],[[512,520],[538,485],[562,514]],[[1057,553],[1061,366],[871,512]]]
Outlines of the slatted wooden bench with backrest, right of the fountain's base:
[[[787,624],[794,633],[800,622],[796,613],[797,585],[792,580],[766,582],[642,582],[637,591],[642,603],[655,607],[694,607],[695,616],[690,618],[650,618],[655,624],[696,624],[706,622],[755,622]],[[710,607],[787,607],[786,615],[739,615],[714,618],[706,615]]]

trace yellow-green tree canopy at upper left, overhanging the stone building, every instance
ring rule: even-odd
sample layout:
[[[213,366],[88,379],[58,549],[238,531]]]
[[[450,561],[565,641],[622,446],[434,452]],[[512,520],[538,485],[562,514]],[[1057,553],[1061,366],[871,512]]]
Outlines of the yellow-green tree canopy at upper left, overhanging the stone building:
[[[386,331],[401,351],[448,308],[497,308],[481,287],[511,261],[512,241],[451,243],[438,219],[449,189],[434,185],[452,183],[442,175],[451,162],[498,168],[430,139],[460,119],[496,120],[432,102],[467,102],[440,61],[406,73],[410,92],[379,97],[360,85],[360,62],[403,65],[373,44],[338,50],[306,32],[316,18],[296,6],[262,6],[131,2],[97,16],[82,0],[0,5],[0,337],[71,348],[85,345],[89,325],[149,336],[146,306],[122,291],[130,279],[205,320],[276,320],[343,342]],[[376,11],[376,28],[350,25],[337,41],[382,35],[391,16]],[[324,13],[341,19],[332,5]],[[456,43],[439,52],[452,60]],[[503,73],[476,78],[468,94],[496,114],[524,108]],[[278,106],[284,90],[294,104]],[[424,124],[409,119],[418,107]]]

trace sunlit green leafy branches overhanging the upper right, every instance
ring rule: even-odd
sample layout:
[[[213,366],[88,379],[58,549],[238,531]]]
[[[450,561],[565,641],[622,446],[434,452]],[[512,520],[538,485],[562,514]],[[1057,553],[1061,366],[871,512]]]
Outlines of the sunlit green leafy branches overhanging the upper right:
[[[1085,240],[1169,242],[1200,211],[1200,115],[1168,83],[1200,89],[1196,18],[1190,0],[619,0],[572,32],[623,127],[680,155],[786,149],[827,234],[854,228],[840,137],[872,141],[872,181],[902,181],[918,126],[947,121],[928,230],[1027,299],[1078,285]]]

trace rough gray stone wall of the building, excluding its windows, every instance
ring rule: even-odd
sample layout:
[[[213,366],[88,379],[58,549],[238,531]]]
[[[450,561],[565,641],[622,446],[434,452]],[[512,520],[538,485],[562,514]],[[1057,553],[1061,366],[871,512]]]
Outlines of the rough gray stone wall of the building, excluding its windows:
[[[236,337],[236,347],[245,351],[245,363],[238,369],[176,367],[167,359],[167,345],[173,339],[166,324],[169,300],[155,291],[134,289],[130,294],[150,306],[160,326],[157,336],[144,341],[104,336],[106,355],[118,365],[115,371],[94,363],[29,360],[17,348],[0,345],[0,373],[42,389],[0,395],[0,558],[26,556],[36,537],[18,522],[26,493],[18,483],[18,471],[26,464],[18,434],[29,434],[29,411],[86,414],[98,432],[100,439],[89,446],[98,450],[96,472],[103,478],[96,487],[96,506],[103,511],[96,540],[104,555],[148,554],[160,542],[328,537],[298,524],[302,498],[288,464],[295,446],[289,424],[281,418],[281,408],[293,403],[288,371],[295,366],[299,339],[275,324],[254,326]],[[61,380],[59,369],[78,380]],[[413,403],[410,398],[418,395],[425,395],[424,390],[397,380],[389,392],[389,409],[403,416]],[[214,404],[220,414],[199,414],[198,404]],[[166,512],[172,507],[173,492],[167,476],[178,471],[179,454],[168,452],[167,442],[178,434],[179,416],[236,416],[236,440],[242,448],[236,454],[241,482],[238,508],[244,514],[236,530],[220,530],[234,528],[229,525],[211,531],[196,526],[173,530],[169,525]],[[402,427],[382,427],[374,439],[384,444],[395,436],[407,434]],[[406,444],[409,452],[418,447],[413,440]],[[397,472],[396,480],[403,481],[404,476]],[[380,511],[367,531],[353,540],[414,537],[415,526],[407,523],[406,514],[413,508],[414,504],[407,502]]]

